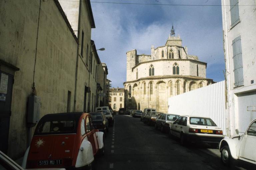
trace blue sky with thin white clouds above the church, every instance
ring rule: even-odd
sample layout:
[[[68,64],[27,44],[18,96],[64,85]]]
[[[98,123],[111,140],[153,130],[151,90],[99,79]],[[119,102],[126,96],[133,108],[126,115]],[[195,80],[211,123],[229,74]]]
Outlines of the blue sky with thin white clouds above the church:
[[[138,5],[114,3],[173,4]],[[182,6],[177,6],[182,5]],[[108,67],[107,78],[112,87],[123,87],[126,81],[126,52],[151,54],[151,45],[166,43],[172,24],[180,35],[188,54],[207,63],[206,77],[215,82],[224,80],[225,69],[221,6],[219,0],[91,0],[96,28],[92,40],[101,62]]]

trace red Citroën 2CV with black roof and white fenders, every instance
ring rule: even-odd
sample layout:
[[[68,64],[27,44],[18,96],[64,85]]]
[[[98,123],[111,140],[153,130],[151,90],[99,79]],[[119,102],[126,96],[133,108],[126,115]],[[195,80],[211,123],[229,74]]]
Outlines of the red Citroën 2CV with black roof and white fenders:
[[[22,166],[91,168],[97,153],[104,154],[104,133],[93,128],[90,114],[47,114],[37,124]]]

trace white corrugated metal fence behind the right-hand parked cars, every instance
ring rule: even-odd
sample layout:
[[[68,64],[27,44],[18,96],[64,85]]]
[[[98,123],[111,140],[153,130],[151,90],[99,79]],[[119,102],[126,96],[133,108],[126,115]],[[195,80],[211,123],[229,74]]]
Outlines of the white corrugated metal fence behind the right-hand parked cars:
[[[225,81],[168,98],[168,113],[210,117],[225,129]]]

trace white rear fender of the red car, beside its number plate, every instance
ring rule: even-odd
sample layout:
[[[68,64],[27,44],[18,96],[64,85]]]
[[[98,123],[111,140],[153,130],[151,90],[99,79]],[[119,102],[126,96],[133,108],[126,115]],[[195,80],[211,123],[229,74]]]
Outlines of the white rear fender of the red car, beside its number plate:
[[[78,167],[88,165],[92,163],[93,160],[94,160],[94,156],[93,156],[92,144],[91,142],[88,141],[87,137],[85,137],[80,145],[75,167],[78,168]]]

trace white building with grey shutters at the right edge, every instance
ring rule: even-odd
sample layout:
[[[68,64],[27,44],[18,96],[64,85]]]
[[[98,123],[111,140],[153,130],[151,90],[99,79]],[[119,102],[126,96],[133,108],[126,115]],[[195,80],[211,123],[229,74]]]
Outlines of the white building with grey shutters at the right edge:
[[[245,132],[256,118],[255,0],[222,0],[226,66],[226,129]]]

